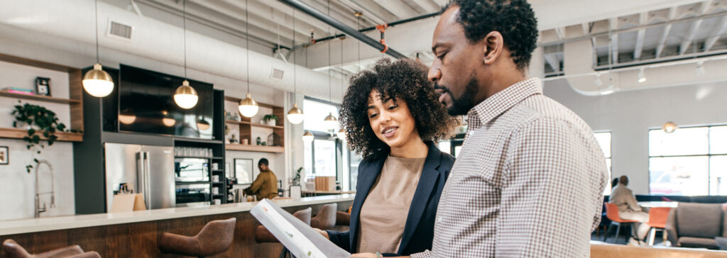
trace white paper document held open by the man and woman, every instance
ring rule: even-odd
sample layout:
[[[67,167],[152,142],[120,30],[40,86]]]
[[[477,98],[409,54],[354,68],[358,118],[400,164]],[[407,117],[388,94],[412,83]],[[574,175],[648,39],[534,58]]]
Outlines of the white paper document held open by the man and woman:
[[[257,203],[250,213],[295,257],[345,258],[351,255],[268,199]]]

